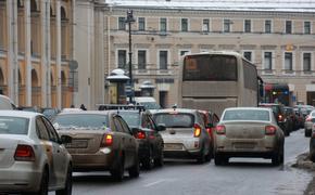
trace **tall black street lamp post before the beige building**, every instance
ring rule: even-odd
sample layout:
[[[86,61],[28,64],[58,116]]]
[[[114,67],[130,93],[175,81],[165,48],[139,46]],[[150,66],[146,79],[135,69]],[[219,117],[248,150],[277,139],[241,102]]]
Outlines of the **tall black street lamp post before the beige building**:
[[[133,51],[131,51],[131,23],[135,22],[133,10],[127,10],[127,18],[125,23],[128,23],[129,27],[129,103],[133,103],[133,96],[134,96],[134,80],[133,80]]]

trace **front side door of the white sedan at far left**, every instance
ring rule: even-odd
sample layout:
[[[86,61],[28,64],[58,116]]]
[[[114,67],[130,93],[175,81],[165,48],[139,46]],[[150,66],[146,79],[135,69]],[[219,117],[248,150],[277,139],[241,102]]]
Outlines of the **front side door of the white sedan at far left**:
[[[61,186],[64,184],[64,181],[66,179],[66,172],[67,172],[67,152],[63,144],[61,144],[60,138],[51,125],[51,122],[42,117],[42,120],[46,125],[51,144],[52,144],[52,165],[53,170],[56,179],[56,185]]]

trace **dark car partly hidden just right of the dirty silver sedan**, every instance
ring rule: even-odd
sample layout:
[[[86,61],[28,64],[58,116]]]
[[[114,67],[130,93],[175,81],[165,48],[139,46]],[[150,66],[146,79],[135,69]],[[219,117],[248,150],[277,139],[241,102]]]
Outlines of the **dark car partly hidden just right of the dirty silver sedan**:
[[[261,103],[260,107],[270,107],[277,119],[278,126],[282,129],[286,136],[290,135],[292,130],[291,119],[287,116],[284,105],[276,103]]]

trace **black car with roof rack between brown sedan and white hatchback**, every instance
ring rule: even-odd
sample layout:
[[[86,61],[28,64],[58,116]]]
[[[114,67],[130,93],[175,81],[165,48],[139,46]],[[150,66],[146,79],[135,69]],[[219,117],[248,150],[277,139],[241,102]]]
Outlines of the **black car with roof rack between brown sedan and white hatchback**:
[[[150,112],[143,106],[106,105],[99,109],[116,109],[128,123],[139,143],[139,160],[144,169],[162,167],[164,162],[164,142],[160,131],[164,126],[156,126]]]

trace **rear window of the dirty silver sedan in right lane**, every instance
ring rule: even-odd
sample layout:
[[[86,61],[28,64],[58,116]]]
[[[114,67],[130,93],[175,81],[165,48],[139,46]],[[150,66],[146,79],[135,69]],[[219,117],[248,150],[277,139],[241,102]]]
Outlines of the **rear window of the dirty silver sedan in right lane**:
[[[235,109],[226,110],[223,120],[263,120],[269,121],[268,110],[257,109]]]

